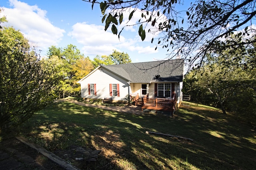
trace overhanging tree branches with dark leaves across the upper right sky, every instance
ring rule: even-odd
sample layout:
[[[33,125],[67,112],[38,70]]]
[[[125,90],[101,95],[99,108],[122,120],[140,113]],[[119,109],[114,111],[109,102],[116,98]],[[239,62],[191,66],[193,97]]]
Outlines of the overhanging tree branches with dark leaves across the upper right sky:
[[[169,59],[183,57],[190,66],[202,63],[222,37],[235,34],[242,40],[230,41],[231,47],[255,42],[245,38],[254,30],[255,0],[197,0],[187,10],[186,2],[180,0],[83,1],[92,3],[92,8],[100,4],[105,31],[111,25],[112,33],[119,37],[124,27],[138,25],[142,41],[146,33],[153,33],[151,42],[156,39],[158,46],[166,48]],[[128,22],[118,30],[127,13]],[[141,18],[135,24],[129,22],[138,13]]]

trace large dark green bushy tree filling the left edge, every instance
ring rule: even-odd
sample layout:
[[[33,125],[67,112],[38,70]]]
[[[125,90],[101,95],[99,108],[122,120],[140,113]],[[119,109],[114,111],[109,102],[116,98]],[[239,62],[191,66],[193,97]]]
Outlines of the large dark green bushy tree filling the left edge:
[[[57,72],[30,50],[22,33],[0,29],[0,131],[20,125],[54,101]]]

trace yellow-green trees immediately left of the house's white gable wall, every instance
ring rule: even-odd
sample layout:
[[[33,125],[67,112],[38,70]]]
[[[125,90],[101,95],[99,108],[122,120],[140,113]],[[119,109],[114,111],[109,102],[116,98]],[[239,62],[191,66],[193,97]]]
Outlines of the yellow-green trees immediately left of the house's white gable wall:
[[[59,86],[59,97],[78,96],[80,87],[76,82],[83,76],[86,76],[92,70],[92,62],[85,58],[75,45],[67,45],[65,48],[48,48],[48,60],[55,61],[61,68]]]

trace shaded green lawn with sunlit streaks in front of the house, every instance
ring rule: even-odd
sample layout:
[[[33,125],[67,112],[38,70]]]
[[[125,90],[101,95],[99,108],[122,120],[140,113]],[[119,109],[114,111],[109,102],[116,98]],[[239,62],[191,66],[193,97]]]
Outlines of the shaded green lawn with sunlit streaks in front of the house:
[[[174,117],[136,115],[59,102],[36,113],[20,135],[49,151],[102,150],[90,169],[254,169],[256,133],[213,107],[184,102]],[[154,131],[194,139],[148,135]]]

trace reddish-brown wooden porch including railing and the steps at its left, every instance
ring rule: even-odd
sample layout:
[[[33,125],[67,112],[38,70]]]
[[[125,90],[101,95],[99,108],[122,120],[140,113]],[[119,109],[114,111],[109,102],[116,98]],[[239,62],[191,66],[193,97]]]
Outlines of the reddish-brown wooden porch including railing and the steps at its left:
[[[176,94],[172,98],[148,98],[147,95],[139,98],[138,94],[131,94],[130,97],[135,106],[141,105],[142,112],[144,109],[168,111],[172,116],[176,110]]]

